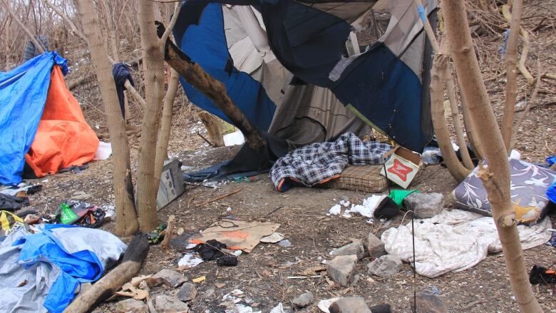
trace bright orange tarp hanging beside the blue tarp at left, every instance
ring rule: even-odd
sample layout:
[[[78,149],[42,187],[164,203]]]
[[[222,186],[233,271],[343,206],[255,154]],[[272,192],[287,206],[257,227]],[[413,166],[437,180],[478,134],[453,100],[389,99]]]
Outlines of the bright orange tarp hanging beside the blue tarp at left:
[[[25,160],[37,177],[93,160],[98,138],[85,120],[81,106],[54,66],[43,116]]]

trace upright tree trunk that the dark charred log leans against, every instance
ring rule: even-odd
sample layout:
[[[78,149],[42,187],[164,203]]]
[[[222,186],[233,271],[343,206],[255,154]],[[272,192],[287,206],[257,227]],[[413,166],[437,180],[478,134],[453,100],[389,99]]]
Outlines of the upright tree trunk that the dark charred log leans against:
[[[138,213],[141,231],[150,231],[158,225],[156,215],[155,158],[156,141],[160,125],[160,109],[164,96],[164,56],[155,27],[154,3],[139,1],[141,52],[145,66],[145,116],[141,130],[139,165],[137,168]]]

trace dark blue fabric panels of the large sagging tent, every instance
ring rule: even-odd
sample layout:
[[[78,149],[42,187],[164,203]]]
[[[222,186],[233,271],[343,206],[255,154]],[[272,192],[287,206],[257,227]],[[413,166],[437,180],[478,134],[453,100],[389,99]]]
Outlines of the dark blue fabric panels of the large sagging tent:
[[[344,106],[356,108],[406,148],[421,152],[431,140],[428,83],[423,86],[401,60],[405,52],[396,55],[377,42],[333,81],[330,73],[342,60],[351,31],[344,19],[294,0],[185,1],[174,28],[177,46],[225,84],[232,101],[259,129],[267,130],[274,103],[260,83],[234,68],[227,51],[222,4],[252,5],[260,11],[272,52],[296,78],[329,88]],[[428,68],[423,72],[426,82]],[[230,121],[202,93],[183,80],[181,83],[192,103]]]

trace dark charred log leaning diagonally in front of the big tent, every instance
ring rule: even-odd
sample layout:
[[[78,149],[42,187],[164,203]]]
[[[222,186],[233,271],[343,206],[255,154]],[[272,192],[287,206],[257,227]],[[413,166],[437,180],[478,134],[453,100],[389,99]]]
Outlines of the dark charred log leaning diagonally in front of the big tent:
[[[157,22],[158,38],[162,38],[165,27]],[[253,150],[262,150],[267,145],[261,130],[257,129],[244,115],[242,111],[233,103],[227,95],[224,84],[210,76],[199,64],[191,61],[180,48],[167,39],[165,42],[164,59],[180,76],[190,83],[195,89],[202,92],[212,103],[222,110],[222,112],[232,120],[237,128],[240,128],[247,144]]]

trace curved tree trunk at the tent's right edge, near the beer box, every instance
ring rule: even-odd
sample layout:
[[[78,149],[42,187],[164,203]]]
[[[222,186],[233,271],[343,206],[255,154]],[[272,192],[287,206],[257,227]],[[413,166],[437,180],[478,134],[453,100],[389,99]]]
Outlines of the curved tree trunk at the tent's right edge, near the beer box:
[[[444,78],[446,77],[447,67],[447,56],[437,54],[434,57],[433,70],[431,72],[431,116],[433,118],[436,138],[438,139],[438,147],[441,149],[446,168],[448,168],[450,174],[459,183],[467,177],[470,170],[465,168],[455,155],[450,141],[450,133],[448,133],[446,119],[444,118],[444,93],[442,86]]]

